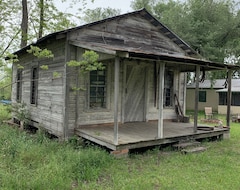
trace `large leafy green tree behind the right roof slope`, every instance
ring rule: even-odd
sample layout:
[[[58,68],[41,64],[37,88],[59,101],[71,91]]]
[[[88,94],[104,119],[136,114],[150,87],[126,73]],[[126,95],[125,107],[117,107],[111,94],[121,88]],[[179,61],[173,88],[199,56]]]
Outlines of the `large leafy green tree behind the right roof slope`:
[[[132,2],[133,9],[142,5],[208,60],[223,63],[226,57],[239,57],[240,10],[233,0]],[[206,77],[223,78],[225,74],[212,72]]]

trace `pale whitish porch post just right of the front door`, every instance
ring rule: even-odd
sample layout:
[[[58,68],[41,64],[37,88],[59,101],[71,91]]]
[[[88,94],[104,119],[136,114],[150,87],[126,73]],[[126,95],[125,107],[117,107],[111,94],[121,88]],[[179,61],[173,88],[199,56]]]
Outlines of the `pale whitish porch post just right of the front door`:
[[[159,87],[158,87],[158,138],[163,138],[163,95],[164,95],[164,73],[165,73],[165,63],[161,62],[159,64],[160,72],[159,72]]]

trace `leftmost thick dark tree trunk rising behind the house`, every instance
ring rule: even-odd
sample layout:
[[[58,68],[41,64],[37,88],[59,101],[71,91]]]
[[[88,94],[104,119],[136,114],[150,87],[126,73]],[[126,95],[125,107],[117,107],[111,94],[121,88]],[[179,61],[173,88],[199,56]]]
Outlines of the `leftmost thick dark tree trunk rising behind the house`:
[[[21,45],[23,48],[27,45],[28,38],[28,8],[27,8],[27,0],[22,0],[22,23],[21,23],[22,37],[21,37]]]

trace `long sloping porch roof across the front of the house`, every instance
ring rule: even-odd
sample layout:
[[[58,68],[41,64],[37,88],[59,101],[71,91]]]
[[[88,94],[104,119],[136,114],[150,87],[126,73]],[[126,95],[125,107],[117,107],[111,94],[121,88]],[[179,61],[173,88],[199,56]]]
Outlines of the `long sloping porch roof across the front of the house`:
[[[168,54],[168,53],[153,53],[146,50],[145,48],[134,48],[134,47],[120,47],[112,46],[108,44],[83,44],[80,41],[70,41],[70,44],[98,51],[101,53],[106,53],[114,56],[119,56],[123,58],[134,58],[143,60],[153,60],[153,61],[165,61],[168,67],[173,67],[181,72],[195,72],[196,66],[199,65],[201,70],[238,70],[240,69],[237,65],[229,65],[223,63],[212,62],[205,59],[198,59],[189,57],[183,54]]]

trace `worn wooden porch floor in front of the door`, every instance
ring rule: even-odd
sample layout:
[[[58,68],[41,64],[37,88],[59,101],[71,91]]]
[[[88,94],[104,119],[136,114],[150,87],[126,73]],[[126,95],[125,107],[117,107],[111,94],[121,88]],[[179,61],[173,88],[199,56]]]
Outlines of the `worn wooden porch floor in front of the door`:
[[[79,126],[76,129],[76,134],[87,140],[106,146],[109,149],[120,150],[174,143],[188,139],[196,140],[214,136],[220,137],[224,133],[229,132],[229,129],[226,128],[214,128],[212,131],[197,130],[197,133],[194,133],[193,123],[164,121],[163,138],[158,139],[157,128],[158,123],[152,121],[119,124],[118,145],[114,144],[113,125]]]

